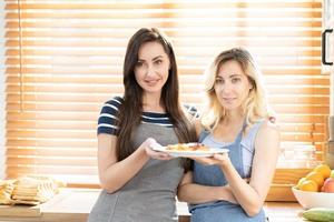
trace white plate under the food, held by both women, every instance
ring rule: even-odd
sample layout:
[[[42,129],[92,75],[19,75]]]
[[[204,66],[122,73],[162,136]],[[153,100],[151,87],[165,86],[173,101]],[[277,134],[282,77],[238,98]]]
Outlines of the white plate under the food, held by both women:
[[[223,148],[209,148],[209,150],[196,150],[196,151],[178,151],[178,150],[167,150],[167,147],[153,145],[153,150],[159,152],[166,152],[171,157],[213,157],[215,153],[227,153],[227,149]]]

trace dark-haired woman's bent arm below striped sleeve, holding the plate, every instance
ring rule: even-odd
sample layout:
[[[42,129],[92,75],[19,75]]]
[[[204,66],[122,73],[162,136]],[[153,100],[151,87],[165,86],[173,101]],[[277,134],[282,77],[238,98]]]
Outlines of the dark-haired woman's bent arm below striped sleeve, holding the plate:
[[[124,186],[145,165],[149,158],[168,160],[166,153],[155,152],[150,144],[156,143],[151,138],[147,139],[128,158],[117,161],[117,137],[106,133],[98,134],[98,170],[102,189],[114,193]]]

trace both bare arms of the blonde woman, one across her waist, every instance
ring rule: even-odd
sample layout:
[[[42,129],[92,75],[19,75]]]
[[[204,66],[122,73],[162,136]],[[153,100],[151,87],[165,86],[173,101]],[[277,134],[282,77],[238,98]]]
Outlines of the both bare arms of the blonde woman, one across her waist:
[[[268,193],[279,151],[279,132],[271,122],[259,129],[255,140],[252,178],[240,178],[228,155],[215,154],[214,158],[194,158],[203,164],[217,164],[228,181],[225,186],[204,186],[193,183],[191,172],[188,172],[178,188],[178,199],[189,203],[204,203],[225,200],[238,203],[247,215],[256,215]]]

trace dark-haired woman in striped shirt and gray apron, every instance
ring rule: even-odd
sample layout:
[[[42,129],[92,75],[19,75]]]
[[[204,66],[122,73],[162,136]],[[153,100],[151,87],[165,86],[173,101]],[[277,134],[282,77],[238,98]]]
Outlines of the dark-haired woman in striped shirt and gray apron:
[[[99,117],[102,191],[88,221],[177,221],[175,195],[187,162],[151,147],[196,141],[195,109],[180,105],[174,50],[157,29],[130,39],[124,85],[124,97],[106,102]]]

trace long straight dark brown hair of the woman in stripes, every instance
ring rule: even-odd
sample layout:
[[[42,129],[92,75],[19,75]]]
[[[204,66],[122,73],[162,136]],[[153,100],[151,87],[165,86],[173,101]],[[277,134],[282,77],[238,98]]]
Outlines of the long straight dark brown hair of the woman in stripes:
[[[143,112],[143,89],[135,78],[135,67],[138,62],[139,48],[146,42],[158,42],[168,54],[170,69],[165,83],[160,103],[164,105],[174,124],[175,133],[179,142],[197,141],[196,132],[184,113],[178,94],[178,77],[175,53],[170,42],[157,29],[139,29],[129,40],[124,61],[124,102],[119,108],[119,135],[116,145],[118,161],[129,157],[135,149],[130,139],[132,132],[140,124]]]

